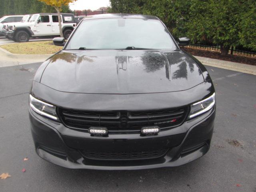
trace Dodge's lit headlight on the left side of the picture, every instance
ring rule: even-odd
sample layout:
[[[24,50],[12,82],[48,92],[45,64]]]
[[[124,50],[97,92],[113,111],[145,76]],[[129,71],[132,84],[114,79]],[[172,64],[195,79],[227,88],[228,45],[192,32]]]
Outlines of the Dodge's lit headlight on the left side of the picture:
[[[32,95],[29,95],[29,105],[38,114],[53,120],[58,120],[55,106],[42,102],[34,98]]]

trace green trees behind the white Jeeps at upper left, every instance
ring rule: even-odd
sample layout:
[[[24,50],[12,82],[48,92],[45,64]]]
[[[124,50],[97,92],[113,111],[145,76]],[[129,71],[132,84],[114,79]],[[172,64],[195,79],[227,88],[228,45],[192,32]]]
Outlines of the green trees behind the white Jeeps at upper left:
[[[55,13],[54,7],[38,0],[0,0],[0,17],[35,13]],[[62,6],[62,12],[70,13],[69,6]]]

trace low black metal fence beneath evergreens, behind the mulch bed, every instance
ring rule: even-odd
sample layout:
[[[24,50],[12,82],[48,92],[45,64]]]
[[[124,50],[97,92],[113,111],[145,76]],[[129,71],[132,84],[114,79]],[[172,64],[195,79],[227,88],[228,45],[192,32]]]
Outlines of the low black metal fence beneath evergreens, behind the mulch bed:
[[[190,44],[189,47],[202,48],[202,49],[206,49],[206,50],[217,50],[217,51],[220,51],[220,46],[218,46],[218,45],[216,45],[216,46],[208,46],[208,45]],[[256,56],[256,52],[249,52],[249,51],[244,51],[244,50],[238,50],[238,49],[234,49],[234,47],[231,47],[231,49],[229,49],[229,53],[230,54],[236,54],[236,55],[250,56],[250,57]]]

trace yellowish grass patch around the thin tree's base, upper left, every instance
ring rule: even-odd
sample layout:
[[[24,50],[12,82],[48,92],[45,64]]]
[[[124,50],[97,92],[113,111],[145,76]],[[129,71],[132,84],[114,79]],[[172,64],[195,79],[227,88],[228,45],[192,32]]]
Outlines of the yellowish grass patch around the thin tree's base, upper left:
[[[2,45],[1,48],[14,54],[44,55],[54,54],[62,50],[62,46],[55,46],[52,41],[37,41],[26,43],[12,43]]]

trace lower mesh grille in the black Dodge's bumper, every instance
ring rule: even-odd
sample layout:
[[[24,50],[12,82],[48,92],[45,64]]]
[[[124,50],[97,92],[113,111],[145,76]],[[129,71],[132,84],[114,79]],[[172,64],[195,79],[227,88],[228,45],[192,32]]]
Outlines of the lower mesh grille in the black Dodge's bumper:
[[[88,159],[94,160],[141,160],[152,159],[164,156],[168,148],[160,148],[157,150],[148,151],[129,151],[129,152],[101,152],[82,150],[81,154]]]

